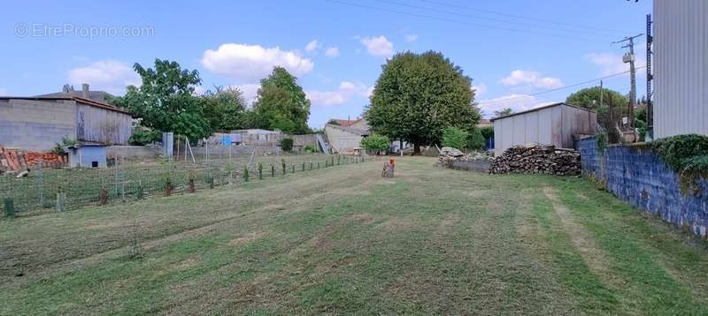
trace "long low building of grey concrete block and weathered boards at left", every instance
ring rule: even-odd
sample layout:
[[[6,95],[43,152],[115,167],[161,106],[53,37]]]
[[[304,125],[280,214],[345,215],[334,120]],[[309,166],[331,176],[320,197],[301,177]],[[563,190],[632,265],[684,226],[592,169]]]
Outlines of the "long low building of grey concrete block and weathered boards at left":
[[[63,138],[79,144],[127,145],[133,117],[125,109],[78,96],[0,97],[0,146],[46,151]]]

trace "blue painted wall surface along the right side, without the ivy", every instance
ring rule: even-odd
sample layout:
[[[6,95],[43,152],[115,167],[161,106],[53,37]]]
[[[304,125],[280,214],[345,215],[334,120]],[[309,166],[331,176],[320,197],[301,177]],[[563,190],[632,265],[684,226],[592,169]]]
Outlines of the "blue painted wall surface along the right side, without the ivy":
[[[666,222],[708,237],[707,181],[701,181],[697,195],[681,196],[678,175],[657,155],[621,145],[599,153],[594,137],[577,144],[583,172],[604,181],[609,192]]]

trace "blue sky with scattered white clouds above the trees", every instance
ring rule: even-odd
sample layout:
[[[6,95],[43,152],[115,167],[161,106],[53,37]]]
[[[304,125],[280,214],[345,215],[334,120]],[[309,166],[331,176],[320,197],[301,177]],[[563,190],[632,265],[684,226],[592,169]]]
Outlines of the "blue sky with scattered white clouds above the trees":
[[[626,36],[646,30],[640,0],[12,1],[0,19],[0,95],[81,89],[124,94],[133,64],[155,58],[199,71],[202,86],[239,87],[281,65],[312,102],[308,123],[360,117],[396,52],[442,52],[473,79],[484,117],[562,102],[628,70]],[[635,41],[637,66],[645,39]],[[645,91],[637,72],[637,95]],[[582,84],[581,84],[582,83]],[[604,79],[627,94],[627,73]],[[550,92],[549,92],[550,91]]]

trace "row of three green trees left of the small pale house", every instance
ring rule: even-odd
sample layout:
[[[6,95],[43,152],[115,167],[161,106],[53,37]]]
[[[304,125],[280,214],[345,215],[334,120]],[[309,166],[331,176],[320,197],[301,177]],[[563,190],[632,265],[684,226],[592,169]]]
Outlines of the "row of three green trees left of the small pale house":
[[[140,118],[131,137],[133,144],[157,141],[160,132],[174,132],[193,141],[212,132],[247,128],[312,132],[307,125],[310,101],[285,68],[276,66],[261,79],[252,107],[236,87],[214,87],[196,95],[202,83],[199,72],[182,69],[173,61],[156,59],[154,68],[135,63],[134,69],[142,85],[129,86],[124,96],[109,100]]]

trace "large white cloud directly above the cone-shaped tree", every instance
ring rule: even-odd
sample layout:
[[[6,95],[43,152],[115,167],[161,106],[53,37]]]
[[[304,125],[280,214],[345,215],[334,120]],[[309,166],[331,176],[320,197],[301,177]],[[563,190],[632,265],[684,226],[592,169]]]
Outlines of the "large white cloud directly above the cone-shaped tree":
[[[209,71],[237,79],[255,82],[266,77],[274,66],[285,67],[299,76],[312,71],[314,63],[295,51],[279,47],[263,48],[260,45],[236,43],[221,44],[219,49],[207,49],[202,56],[202,65]]]

